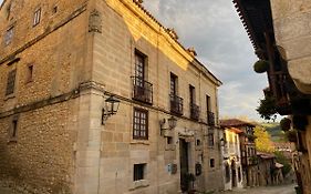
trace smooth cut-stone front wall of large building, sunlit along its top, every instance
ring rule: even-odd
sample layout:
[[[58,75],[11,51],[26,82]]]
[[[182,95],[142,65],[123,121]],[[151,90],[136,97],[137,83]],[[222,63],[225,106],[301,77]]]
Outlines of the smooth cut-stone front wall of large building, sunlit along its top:
[[[219,190],[222,186],[219,145],[216,143],[214,149],[208,149],[206,136],[206,95],[210,96],[210,111],[217,115],[219,82],[133,1],[96,1],[95,11],[100,13],[103,28],[102,32],[94,33],[92,80],[122,100],[117,114],[101,126],[100,193],[176,193],[180,188],[179,141],[185,137],[189,141],[189,172],[195,174],[195,164],[203,164],[204,173],[196,177],[196,188]],[[152,105],[132,100],[135,50],[146,55],[146,80],[153,83]],[[184,114],[177,118],[173,145],[167,145],[159,121],[170,116],[170,72],[178,76]],[[196,88],[200,122],[189,119],[189,84]],[[134,108],[148,111],[148,140],[133,139]],[[191,135],[187,137],[188,132]],[[215,142],[218,142],[217,132],[215,134]],[[198,147],[196,140],[203,145]],[[209,159],[215,159],[215,170],[210,170]],[[147,164],[146,180],[134,182],[133,166],[138,163]],[[178,165],[176,174],[167,171],[169,164]],[[210,180],[215,184],[207,185]]]

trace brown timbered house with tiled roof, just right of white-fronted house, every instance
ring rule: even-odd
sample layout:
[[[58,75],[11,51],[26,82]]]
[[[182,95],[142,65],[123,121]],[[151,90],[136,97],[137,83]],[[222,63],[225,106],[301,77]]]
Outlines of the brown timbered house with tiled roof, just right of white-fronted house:
[[[258,160],[253,135],[255,125],[238,119],[221,120],[220,125],[221,127],[235,127],[240,130],[239,143],[242,183],[243,186],[258,186]]]

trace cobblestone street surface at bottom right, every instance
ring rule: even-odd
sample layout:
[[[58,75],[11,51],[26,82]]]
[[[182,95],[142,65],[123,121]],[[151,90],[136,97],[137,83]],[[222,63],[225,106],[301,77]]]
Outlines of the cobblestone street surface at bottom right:
[[[224,192],[224,194],[296,194],[294,184],[268,187],[241,188]]]

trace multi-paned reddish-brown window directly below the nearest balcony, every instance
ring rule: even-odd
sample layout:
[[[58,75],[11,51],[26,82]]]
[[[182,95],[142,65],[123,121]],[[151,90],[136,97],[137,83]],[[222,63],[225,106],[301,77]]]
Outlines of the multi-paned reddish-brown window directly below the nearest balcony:
[[[134,109],[133,137],[148,139],[148,111],[143,109]]]

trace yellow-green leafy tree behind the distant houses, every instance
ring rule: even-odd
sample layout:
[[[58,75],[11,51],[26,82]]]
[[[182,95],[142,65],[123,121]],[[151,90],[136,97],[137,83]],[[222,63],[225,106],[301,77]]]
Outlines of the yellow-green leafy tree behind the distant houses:
[[[273,152],[274,146],[271,141],[270,134],[262,126],[256,126],[253,134],[257,137],[255,140],[256,149],[261,152]]]

